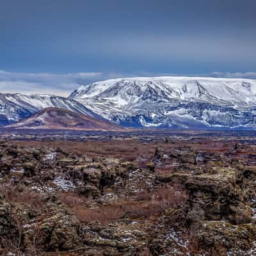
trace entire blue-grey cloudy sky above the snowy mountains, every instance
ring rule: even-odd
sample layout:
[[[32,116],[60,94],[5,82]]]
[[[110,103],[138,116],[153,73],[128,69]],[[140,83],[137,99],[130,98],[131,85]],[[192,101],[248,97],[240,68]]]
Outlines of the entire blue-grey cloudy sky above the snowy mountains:
[[[131,76],[256,79],[255,0],[1,0],[0,92]]]

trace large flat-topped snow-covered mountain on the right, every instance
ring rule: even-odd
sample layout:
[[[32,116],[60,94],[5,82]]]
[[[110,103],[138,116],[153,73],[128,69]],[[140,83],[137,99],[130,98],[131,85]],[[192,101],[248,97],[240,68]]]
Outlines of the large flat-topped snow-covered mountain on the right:
[[[251,79],[110,79],[81,86],[68,99],[126,127],[256,128],[256,81]]]

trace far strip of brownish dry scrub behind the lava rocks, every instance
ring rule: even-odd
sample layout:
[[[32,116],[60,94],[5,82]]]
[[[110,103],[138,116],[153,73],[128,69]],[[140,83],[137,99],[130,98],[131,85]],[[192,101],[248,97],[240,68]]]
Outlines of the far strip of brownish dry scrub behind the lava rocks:
[[[200,142],[200,143],[199,143]],[[223,152],[230,150],[235,141],[225,143],[211,139],[198,140],[170,140],[164,142],[142,143],[137,140],[111,140],[111,141],[12,141],[13,144],[24,147],[52,147],[61,148],[74,154],[86,154],[89,157],[118,157],[123,159],[136,159],[140,155],[154,155],[157,148],[163,150],[173,150],[177,147],[192,147],[195,150],[205,150],[209,152]]]

